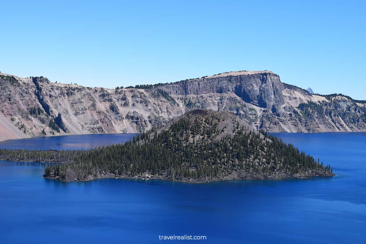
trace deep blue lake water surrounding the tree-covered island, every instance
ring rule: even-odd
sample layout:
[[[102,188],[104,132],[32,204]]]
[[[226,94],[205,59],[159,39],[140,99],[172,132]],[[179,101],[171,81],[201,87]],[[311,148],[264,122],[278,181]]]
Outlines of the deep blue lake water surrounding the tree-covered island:
[[[336,176],[64,183],[42,178],[43,164],[0,161],[0,243],[366,243],[366,133],[274,134]],[[47,139],[36,147],[64,140]],[[207,240],[158,238],[173,234]]]

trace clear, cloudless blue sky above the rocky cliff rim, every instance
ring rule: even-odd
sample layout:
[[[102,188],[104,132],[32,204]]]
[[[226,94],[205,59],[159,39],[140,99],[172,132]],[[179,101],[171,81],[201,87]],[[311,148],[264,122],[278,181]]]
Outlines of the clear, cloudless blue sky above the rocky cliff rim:
[[[366,99],[364,1],[3,1],[0,71],[84,86],[271,70]]]

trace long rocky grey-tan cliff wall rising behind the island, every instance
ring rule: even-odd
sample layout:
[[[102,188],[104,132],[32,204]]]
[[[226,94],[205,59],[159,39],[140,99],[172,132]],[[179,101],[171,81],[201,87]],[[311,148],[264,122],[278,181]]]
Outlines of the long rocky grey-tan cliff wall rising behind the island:
[[[193,109],[229,111],[268,132],[366,131],[366,102],[312,95],[270,71],[238,71],[149,89],[90,88],[0,73],[0,140],[142,132]]]

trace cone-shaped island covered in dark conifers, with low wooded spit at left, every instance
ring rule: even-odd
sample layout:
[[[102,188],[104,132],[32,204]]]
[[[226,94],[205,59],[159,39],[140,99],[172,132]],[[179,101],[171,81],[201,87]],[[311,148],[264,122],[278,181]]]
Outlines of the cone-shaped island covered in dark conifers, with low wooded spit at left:
[[[333,176],[291,144],[259,133],[229,112],[193,110],[124,144],[89,150],[7,150],[0,160],[49,162],[44,177],[61,181],[97,178],[183,182]]]

